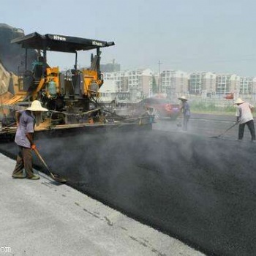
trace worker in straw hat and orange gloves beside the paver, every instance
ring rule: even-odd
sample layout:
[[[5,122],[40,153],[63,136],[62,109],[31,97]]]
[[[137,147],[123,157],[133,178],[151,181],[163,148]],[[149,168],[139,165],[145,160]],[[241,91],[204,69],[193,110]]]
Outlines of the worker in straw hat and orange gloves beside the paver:
[[[42,108],[41,103],[38,100],[34,100],[31,103],[31,107],[26,110],[18,110],[15,113],[18,125],[15,135],[15,143],[18,145],[18,156],[12,178],[39,179],[39,176],[33,172],[31,149],[36,148],[33,140],[34,125],[42,111],[48,111],[48,109]],[[26,176],[23,176],[23,168]]]

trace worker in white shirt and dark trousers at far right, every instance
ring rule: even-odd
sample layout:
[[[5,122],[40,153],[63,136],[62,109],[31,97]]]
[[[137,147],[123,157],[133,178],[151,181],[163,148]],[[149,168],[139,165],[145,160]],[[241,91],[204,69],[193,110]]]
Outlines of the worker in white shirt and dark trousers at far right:
[[[252,136],[252,142],[255,142],[255,123],[252,116],[254,106],[248,102],[244,102],[241,98],[236,99],[234,105],[238,105],[236,110],[236,121],[239,124],[238,141],[243,139],[244,127],[247,125]]]

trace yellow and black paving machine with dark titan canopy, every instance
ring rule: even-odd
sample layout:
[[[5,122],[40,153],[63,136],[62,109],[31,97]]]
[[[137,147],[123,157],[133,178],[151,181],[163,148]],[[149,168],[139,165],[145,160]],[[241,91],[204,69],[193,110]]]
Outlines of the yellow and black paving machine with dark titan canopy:
[[[91,121],[92,117],[103,120],[97,104],[99,88],[103,84],[99,49],[114,45],[114,42],[34,32],[13,39],[12,43],[34,49],[37,60],[33,61],[31,69],[27,68],[25,60],[24,71],[18,74],[13,84],[12,97],[4,98],[5,107],[26,108],[34,99],[38,99],[51,110],[50,118],[60,120],[60,124]],[[94,49],[97,53],[91,53],[90,67],[78,69],[77,51]],[[74,69],[61,71],[59,67],[50,67],[47,63],[48,50],[75,53]]]

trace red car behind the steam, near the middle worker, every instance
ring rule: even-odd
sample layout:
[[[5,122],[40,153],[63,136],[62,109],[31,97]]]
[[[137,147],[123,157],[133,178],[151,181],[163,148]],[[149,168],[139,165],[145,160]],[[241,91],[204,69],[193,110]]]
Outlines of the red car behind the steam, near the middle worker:
[[[179,115],[179,105],[172,104],[167,98],[146,98],[133,105],[132,108],[135,116],[146,113],[146,110],[151,108],[155,119],[169,117],[175,120]]]

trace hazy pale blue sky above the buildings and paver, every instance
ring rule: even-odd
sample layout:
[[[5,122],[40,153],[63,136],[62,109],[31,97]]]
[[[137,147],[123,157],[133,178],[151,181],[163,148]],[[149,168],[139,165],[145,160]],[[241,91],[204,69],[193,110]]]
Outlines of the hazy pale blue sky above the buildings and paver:
[[[113,41],[102,64],[121,70],[231,73],[256,77],[255,0],[1,0],[0,23],[25,34]],[[88,67],[94,51],[78,53]],[[50,66],[75,64],[72,53],[49,53]]]

